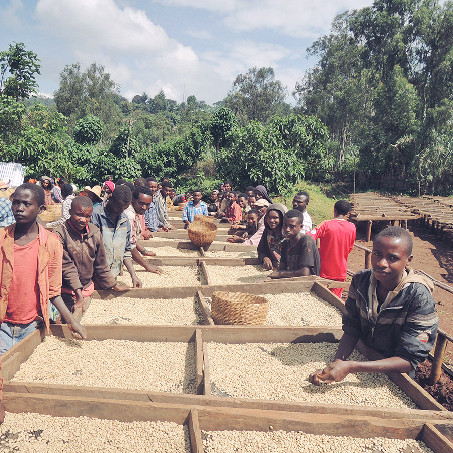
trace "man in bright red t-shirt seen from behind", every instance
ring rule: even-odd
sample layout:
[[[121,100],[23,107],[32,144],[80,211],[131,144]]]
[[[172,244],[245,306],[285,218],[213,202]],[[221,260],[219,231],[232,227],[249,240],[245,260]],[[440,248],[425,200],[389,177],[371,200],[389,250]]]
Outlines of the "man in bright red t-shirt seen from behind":
[[[320,277],[335,281],[346,280],[348,255],[354,247],[356,233],[355,225],[347,221],[350,210],[351,205],[346,200],[337,201],[333,220],[326,220],[307,233],[315,240],[320,238]],[[331,291],[341,298],[343,288]]]

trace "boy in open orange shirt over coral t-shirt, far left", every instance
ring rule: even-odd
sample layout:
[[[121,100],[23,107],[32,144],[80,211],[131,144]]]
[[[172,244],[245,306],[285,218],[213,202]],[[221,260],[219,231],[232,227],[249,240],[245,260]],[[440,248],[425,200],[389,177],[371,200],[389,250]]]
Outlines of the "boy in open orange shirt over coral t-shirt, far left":
[[[44,209],[44,190],[22,184],[13,194],[12,209],[16,223],[0,229],[0,353],[43,322],[49,328],[49,299],[73,334],[86,338],[60,296],[61,244],[36,222]]]

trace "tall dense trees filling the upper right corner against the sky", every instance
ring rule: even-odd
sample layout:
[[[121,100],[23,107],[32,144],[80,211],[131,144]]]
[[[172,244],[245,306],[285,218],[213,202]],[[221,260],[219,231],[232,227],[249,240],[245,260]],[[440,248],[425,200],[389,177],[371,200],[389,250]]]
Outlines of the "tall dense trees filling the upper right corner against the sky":
[[[293,95],[300,111],[328,126],[337,168],[357,148],[359,180],[368,187],[382,180],[390,190],[400,180],[410,190],[420,178],[429,187],[453,185],[432,154],[448,149],[439,143],[452,132],[451,29],[453,2],[375,0],[337,16],[310,47],[319,63]]]

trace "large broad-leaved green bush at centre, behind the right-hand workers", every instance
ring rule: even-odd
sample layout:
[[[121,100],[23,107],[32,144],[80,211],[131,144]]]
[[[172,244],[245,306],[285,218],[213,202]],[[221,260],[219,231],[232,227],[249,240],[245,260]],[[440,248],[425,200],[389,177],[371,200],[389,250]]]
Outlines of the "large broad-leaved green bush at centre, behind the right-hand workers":
[[[234,130],[232,145],[216,156],[221,175],[236,186],[264,185],[280,193],[304,179],[306,173],[325,171],[326,127],[314,117],[274,117],[264,126],[251,121]]]

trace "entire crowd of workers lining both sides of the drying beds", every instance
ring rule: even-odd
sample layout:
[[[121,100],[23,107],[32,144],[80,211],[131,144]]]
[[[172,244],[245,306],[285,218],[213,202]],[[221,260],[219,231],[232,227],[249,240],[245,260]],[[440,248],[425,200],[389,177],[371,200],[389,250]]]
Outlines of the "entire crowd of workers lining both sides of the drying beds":
[[[335,203],[332,220],[313,228],[307,192],[297,193],[288,210],[273,203],[265,187],[235,192],[230,181],[210,194],[209,205],[199,189],[176,195],[168,179],[160,184],[153,177],[133,184],[107,180],[102,188],[87,186],[80,195],[68,186],[60,178],[52,187],[50,178],[43,177],[39,184],[20,185],[10,196],[14,222],[0,228],[0,353],[42,324],[48,330],[54,308],[75,338],[86,338],[72,312],[78,307],[85,311],[86,297],[95,288],[131,289],[116,282],[123,264],[136,288],[142,282],[133,262],[162,273],[144,259],[155,254],[140,240],[175,229],[168,215],[173,208],[183,209],[186,224],[197,214],[230,223],[236,232],[228,241],[255,245],[260,263],[272,271],[263,281],[307,275],[346,279],[356,235],[346,200]],[[64,219],[43,225],[39,214],[52,202],[62,203]],[[438,319],[432,285],[407,267],[411,261],[412,238],[406,230],[391,226],[375,237],[372,268],[352,278],[337,354],[309,376],[314,384],[341,381],[350,372],[414,374],[434,344]],[[341,297],[342,289],[332,291]],[[359,339],[385,358],[347,360]]]

